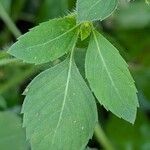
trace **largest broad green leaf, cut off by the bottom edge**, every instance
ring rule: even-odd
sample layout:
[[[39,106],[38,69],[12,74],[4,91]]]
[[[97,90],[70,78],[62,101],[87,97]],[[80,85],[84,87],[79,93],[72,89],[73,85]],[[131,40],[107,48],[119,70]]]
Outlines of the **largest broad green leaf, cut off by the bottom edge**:
[[[25,94],[22,112],[33,150],[85,148],[97,109],[74,60],[66,59],[38,75]]]

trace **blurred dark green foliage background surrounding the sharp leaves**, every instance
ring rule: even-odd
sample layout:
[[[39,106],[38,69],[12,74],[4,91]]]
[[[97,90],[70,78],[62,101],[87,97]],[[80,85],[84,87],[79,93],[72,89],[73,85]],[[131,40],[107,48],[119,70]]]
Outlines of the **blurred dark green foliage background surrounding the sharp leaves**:
[[[0,0],[0,3],[24,34],[40,22],[75,11],[76,0]],[[21,94],[35,75],[53,63],[33,66],[9,56],[6,51],[16,37],[5,24],[1,8],[0,18],[0,150],[27,150],[30,146],[21,128],[20,109],[24,99]],[[145,0],[119,0],[112,16],[94,24],[128,62],[140,103],[135,125],[118,119],[98,105],[100,123],[115,149],[150,150],[150,4]],[[76,61],[83,75],[81,64],[86,46],[85,40],[76,51]],[[88,145],[103,149],[94,137]]]

